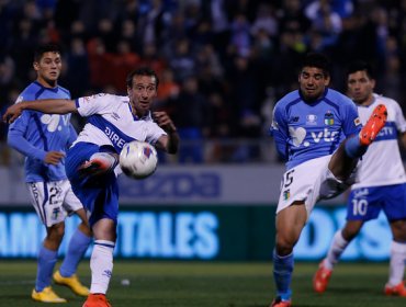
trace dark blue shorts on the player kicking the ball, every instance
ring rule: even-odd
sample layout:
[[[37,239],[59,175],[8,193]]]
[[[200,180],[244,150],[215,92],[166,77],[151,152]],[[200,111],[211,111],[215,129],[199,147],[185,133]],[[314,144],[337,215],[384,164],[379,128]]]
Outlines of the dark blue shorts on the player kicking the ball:
[[[103,175],[82,175],[78,169],[90,159],[100,147],[90,143],[78,143],[66,155],[66,173],[76,196],[90,213],[89,224],[92,226],[101,218],[117,223],[119,185],[114,172]]]

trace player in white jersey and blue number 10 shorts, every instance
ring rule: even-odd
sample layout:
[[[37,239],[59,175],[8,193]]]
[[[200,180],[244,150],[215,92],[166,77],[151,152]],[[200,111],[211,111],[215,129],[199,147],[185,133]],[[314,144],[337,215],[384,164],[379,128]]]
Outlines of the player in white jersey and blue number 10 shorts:
[[[362,157],[357,170],[358,180],[351,186],[347,203],[347,223],[334,236],[327,257],[314,276],[314,289],[317,293],[326,291],[334,265],[347,246],[360,232],[363,224],[377,218],[382,209],[393,235],[390,278],[384,293],[406,297],[403,282],[406,261],[406,174],[397,141],[401,136],[403,145],[406,145],[406,121],[396,101],[373,92],[375,79],[369,64],[352,62],[347,72],[347,86],[363,123],[379,104],[386,106],[388,118],[384,133]]]

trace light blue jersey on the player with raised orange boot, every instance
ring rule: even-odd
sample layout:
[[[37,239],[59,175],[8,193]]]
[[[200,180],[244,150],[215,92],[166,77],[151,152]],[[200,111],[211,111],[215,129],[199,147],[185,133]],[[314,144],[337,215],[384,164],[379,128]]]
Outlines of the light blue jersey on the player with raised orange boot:
[[[356,104],[332,89],[312,103],[305,102],[298,90],[290,92],[273,110],[271,132],[287,169],[331,155],[343,138],[360,129]]]

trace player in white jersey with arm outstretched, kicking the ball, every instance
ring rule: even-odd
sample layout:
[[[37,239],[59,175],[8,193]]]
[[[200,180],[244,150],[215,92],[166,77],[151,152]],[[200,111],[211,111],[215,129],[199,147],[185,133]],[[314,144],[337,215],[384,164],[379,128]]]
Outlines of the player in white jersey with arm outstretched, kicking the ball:
[[[117,155],[132,140],[148,141],[168,154],[179,147],[177,128],[166,112],[149,111],[157,95],[158,77],[140,68],[127,77],[127,96],[97,94],[74,100],[26,101],[10,106],[4,121],[13,122],[23,110],[88,118],[67,152],[66,171],[75,194],[90,213],[94,248],[90,259],[90,295],[83,307],[111,306],[105,297],[113,273],[113,250],[119,215]]]

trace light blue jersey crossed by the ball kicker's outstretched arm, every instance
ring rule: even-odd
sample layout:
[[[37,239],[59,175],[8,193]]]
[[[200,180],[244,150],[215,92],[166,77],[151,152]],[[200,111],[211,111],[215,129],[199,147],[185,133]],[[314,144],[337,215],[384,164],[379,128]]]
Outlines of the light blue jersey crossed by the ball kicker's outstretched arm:
[[[61,87],[45,88],[34,81],[25,88],[16,103],[38,99],[70,99],[70,92]],[[57,166],[50,166],[44,162],[44,158],[47,151],[66,152],[76,137],[70,114],[44,114],[25,110],[10,125],[8,143],[25,156],[25,181],[45,182],[67,179],[65,159]]]

